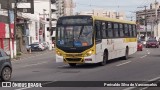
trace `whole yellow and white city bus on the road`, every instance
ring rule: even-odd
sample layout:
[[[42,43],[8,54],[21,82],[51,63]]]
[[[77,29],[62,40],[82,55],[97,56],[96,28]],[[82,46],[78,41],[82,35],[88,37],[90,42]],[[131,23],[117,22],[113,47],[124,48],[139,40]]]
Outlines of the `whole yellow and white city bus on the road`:
[[[105,65],[137,51],[136,23],[89,15],[60,17],[56,29],[56,62],[70,66]]]

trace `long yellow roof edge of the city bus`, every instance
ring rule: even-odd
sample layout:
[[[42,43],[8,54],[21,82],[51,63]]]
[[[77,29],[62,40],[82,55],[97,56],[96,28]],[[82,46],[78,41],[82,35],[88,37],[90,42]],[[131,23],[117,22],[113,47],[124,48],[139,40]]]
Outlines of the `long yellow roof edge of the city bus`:
[[[129,20],[121,20],[121,19],[115,19],[115,18],[108,18],[108,17],[100,17],[100,16],[93,16],[93,15],[71,15],[71,16],[62,16],[60,18],[68,18],[68,17],[85,17],[85,16],[90,16],[94,20],[102,20],[102,21],[111,21],[111,22],[118,22],[118,23],[127,23],[127,24],[136,24],[134,21],[129,21]]]

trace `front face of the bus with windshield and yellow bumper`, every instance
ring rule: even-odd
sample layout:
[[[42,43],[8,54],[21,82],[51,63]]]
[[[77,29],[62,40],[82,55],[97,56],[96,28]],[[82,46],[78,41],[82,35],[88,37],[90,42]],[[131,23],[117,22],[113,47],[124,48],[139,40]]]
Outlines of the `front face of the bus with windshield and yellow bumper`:
[[[56,62],[70,66],[94,63],[94,31],[91,16],[66,16],[58,19]]]

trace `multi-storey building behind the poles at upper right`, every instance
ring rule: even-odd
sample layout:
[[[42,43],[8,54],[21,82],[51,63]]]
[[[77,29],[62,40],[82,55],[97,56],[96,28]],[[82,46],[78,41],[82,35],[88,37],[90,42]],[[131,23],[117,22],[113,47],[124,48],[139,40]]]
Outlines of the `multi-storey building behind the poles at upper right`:
[[[156,20],[156,6],[157,6],[157,20]],[[136,20],[139,22],[139,34],[142,36],[154,36],[160,37],[160,3],[151,3],[149,8],[144,8],[144,10],[140,10],[136,12]],[[145,30],[145,20],[146,27]],[[158,26],[157,26],[158,25]]]

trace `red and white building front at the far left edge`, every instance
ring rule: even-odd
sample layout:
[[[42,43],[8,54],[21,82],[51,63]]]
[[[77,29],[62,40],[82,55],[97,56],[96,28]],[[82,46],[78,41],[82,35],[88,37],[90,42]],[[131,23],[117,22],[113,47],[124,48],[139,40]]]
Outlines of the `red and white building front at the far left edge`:
[[[10,13],[10,29],[8,22],[8,13],[6,10],[0,9],[0,48],[13,58],[14,50],[14,20],[13,12]]]

